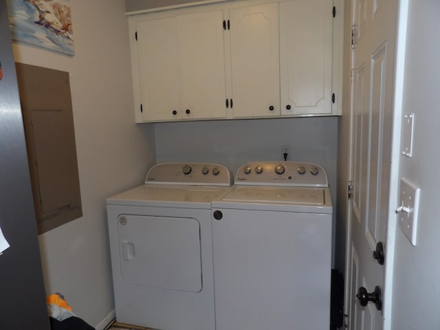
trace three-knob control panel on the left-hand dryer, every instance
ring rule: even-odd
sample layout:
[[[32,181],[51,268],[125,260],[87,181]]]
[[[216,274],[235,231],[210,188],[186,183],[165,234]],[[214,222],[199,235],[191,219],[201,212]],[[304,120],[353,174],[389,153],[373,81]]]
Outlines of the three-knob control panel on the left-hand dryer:
[[[191,186],[230,186],[232,174],[220,164],[163,163],[153,166],[146,184],[190,184]]]

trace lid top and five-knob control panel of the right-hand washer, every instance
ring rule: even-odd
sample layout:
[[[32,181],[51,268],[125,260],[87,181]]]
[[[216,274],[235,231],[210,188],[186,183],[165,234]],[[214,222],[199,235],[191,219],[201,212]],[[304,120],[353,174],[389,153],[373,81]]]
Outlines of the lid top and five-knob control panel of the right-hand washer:
[[[237,170],[235,186],[214,208],[333,212],[327,173],[305,162],[252,162]]]

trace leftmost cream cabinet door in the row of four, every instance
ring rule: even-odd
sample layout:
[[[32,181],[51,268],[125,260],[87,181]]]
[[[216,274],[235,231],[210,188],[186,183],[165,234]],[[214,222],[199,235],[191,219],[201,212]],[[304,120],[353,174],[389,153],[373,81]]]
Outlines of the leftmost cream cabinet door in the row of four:
[[[175,18],[140,21],[136,24],[136,30],[142,119],[179,119],[181,111]]]

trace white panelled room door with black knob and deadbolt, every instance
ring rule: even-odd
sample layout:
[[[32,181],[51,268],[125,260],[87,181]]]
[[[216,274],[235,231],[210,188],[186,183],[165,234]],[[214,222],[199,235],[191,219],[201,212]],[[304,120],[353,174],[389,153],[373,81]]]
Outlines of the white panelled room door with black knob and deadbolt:
[[[380,265],[373,252],[380,242],[387,248],[397,0],[352,0],[352,8],[349,329],[377,330],[383,325],[380,301],[387,261]],[[377,291],[377,297],[373,295],[376,287],[382,292]]]

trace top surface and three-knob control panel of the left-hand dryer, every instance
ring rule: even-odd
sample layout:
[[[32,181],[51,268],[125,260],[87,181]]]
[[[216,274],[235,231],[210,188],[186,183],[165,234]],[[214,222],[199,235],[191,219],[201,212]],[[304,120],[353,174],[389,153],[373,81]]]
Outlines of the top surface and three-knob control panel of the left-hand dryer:
[[[146,184],[107,198],[107,205],[210,208],[231,184],[230,170],[219,164],[158,164],[148,171]]]

